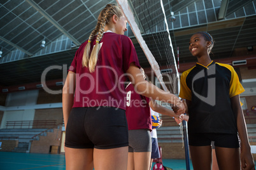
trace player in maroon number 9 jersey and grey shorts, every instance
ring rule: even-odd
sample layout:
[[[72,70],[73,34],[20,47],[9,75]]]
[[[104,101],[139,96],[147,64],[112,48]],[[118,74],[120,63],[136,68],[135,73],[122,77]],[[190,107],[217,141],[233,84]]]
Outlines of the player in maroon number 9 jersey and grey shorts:
[[[146,79],[145,72],[141,73]],[[139,95],[131,83],[125,88],[126,96],[126,117],[129,130],[129,154],[127,170],[148,170],[150,169],[150,158],[152,154],[152,117],[150,107],[162,114],[171,115],[178,119],[179,115],[169,110],[146,96]],[[158,149],[158,148],[157,148]]]

